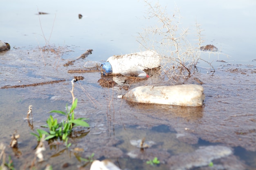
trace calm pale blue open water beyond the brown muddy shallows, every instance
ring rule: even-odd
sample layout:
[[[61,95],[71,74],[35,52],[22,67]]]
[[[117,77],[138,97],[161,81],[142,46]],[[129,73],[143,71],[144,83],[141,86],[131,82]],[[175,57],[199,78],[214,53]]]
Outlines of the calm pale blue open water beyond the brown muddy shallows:
[[[256,40],[254,0],[159,0],[159,4],[170,15],[175,8],[180,10],[181,28],[191,27],[195,32],[195,23],[201,24],[202,45],[214,44],[231,56],[228,60],[255,63],[251,62],[255,59]],[[144,19],[147,9],[142,0],[4,2],[0,7],[0,37],[16,48],[44,46],[45,37],[49,44],[72,46],[78,54],[93,49],[94,60],[106,60],[112,55],[139,51],[138,33],[155,24]],[[36,15],[38,11],[49,14]],[[80,20],[79,13],[83,15]]]

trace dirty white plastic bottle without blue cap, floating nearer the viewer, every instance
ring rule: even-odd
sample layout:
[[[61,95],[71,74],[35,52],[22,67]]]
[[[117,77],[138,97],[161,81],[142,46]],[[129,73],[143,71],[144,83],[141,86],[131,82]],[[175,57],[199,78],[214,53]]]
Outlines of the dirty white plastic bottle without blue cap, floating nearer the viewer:
[[[204,88],[195,84],[176,86],[139,86],[124,95],[130,102],[168,104],[178,106],[202,106]]]

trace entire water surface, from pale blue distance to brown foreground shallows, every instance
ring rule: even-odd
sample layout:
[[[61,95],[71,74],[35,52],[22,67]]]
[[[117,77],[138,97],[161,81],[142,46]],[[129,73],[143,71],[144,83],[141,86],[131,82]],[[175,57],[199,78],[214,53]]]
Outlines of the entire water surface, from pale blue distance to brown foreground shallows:
[[[78,157],[87,158],[94,153],[94,159],[110,159],[123,170],[255,170],[255,2],[177,2],[184,26],[197,20],[205,30],[205,43],[214,44],[231,56],[202,54],[204,60],[213,61],[214,74],[211,66],[200,61],[198,73],[190,79],[174,82],[153,74],[146,80],[124,84],[125,77],[113,77],[119,84],[112,88],[99,85],[98,72],[67,71],[83,68],[87,60],[103,62],[111,55],[139,51],[137,32],[152,23],[141,19],[147,9],[142,1],[102,3],[106,2],[61,1],[49,5],[22,1],[6,2],[5,7],[0,7],[0,37],[11,44],[10,51],[0,52],[0,142],[8,146],[15,131],[20,135],[18,150],[6,148],[15,168],[27,169],[31,165],[37,142],[30,132],[45,124],[49,111],[65,110],[66,104],[71,104],[70,81],[74,76],[83,76],[85,79],[76,82],[74,88],[79,100],[76,116],[89,118],[90,132],[70,139],[69,149],[62,144],[46,145],[45,161],[37,163],[36,168],[51,164],[54,170],[66,166],[89,169],[90,164]],[[175,4],[159,3],[171,10]],[[38,11],[49,14],[38,17]],[[79,13],[83,15],[80,20]],[[44,47],[41,27],[45,38],[51,37],[49,46]],[[87,49],[94,50],[87,58],[63,66]],[[63,82],[2,88],[54,80]],[[123,85],[132,89],[146,84],[178,83],[201,84],[204,105],[193,108],[131,104],[117,97],[127,92],[121,88]],[[33,105],[33,122],[24,120],[29,105]],[[58,120],[65,118],[51,115]],[[144,138],[154,145],[141,150],[130,144],[131,140]],[[225,155],[230,149],[231,154]],[[194,159],[200,155],[205,160]],[[161,161],[157,167],[146,163],[154,157]],[[209,160],[213,167],[208,166]]]

